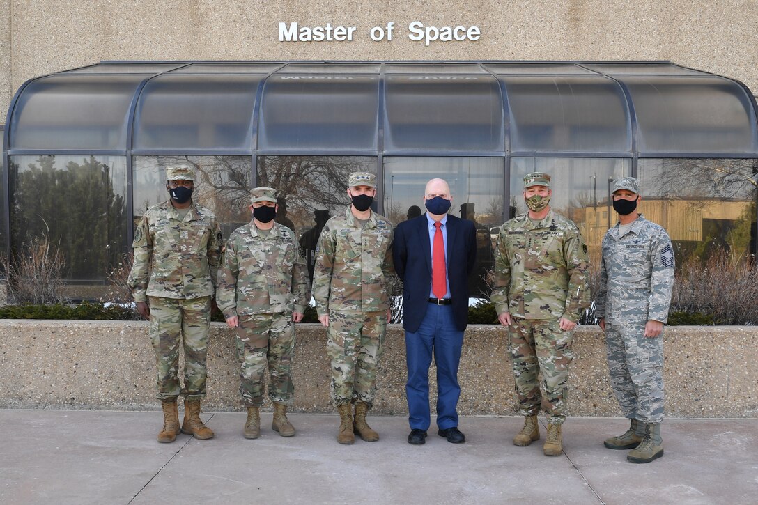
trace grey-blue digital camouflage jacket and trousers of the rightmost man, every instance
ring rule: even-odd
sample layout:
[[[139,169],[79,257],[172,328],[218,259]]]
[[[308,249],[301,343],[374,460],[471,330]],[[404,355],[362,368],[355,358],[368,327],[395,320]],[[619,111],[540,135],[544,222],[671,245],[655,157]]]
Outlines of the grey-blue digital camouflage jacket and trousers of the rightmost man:
[[[674,284],[674,252],[666,231],[643,215],[619,236],[603,237],[595,315],[605,318],[611,386],[628,419],[663,419],[663,334],[644,337],[650,319],[665,323]]]

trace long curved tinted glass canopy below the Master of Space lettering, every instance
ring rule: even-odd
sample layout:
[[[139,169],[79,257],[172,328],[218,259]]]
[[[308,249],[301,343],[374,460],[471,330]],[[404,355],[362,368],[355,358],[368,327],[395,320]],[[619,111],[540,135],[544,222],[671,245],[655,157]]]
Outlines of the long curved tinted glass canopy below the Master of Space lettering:
[[[651,62],[103,62],[30,80],[8,154],[753,157],[735,80]]]

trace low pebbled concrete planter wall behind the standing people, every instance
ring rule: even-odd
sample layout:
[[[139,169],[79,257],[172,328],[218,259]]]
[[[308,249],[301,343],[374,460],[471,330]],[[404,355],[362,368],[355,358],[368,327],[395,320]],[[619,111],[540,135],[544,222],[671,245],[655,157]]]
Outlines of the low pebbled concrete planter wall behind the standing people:
[[[0,321],[2,408],[157,409],[146,322]],[[297,325],[296,412],[331,412],[329,360],[319,325]],[[758,415],[758,328],[666,328],[666,412],[674,417]],[[575,331],[570,381],[574,416],[619,416],[609,387],[603,334]],[[390,325],[375,413],[406,413],[402,328]],[[242,409],[233,334],[214,323],[206,410]],[[435,389],[434,365],[431,390]],[[459,381],[462,415],[515,413],[503,328],[466,331]],[[434,394],[431,398],[434,403]]]

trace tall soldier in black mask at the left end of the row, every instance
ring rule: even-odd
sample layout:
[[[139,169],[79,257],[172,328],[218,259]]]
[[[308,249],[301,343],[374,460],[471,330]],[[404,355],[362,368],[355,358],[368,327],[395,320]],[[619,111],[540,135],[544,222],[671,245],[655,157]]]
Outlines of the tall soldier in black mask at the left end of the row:
[[[158,366],[158,399],[164,426],[159,442],[173,442],[181,430],[205,440],[211,428],[200,419],[205,397],[205,356],[211,325],[211,297],[221,256],[221,227],[215,215],[192,199],[195,174],[186,165],[166,168],[171,199],[145,212],[134,231],[134,265],[129,274],[137,310],[150,320]],[[184,344],[184,387],[179,382]],[[184,396],[179,427],[177,397]]]

